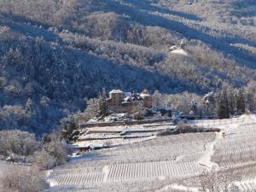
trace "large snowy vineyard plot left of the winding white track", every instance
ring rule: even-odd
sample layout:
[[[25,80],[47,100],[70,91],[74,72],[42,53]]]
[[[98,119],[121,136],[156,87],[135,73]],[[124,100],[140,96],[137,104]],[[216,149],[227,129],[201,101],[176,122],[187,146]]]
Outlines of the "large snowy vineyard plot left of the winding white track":
[[[204,153],[204,144],[214,137],[214,133],[158,137],[120,148],[93,151],[84,154],[81,161],[56,168],[49,180],[62,187],[97,189],[96,186],[102,184],[190,177],[201,172],[197,161]]]

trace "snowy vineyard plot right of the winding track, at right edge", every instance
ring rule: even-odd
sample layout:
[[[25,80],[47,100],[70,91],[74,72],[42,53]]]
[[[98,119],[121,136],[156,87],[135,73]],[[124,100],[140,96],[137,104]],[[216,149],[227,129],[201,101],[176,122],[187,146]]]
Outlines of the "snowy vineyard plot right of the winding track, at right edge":
[[[212,160],[220,166],[248,164],[256,160],[256,122],[227,126],[227,136],[215,146]]]

